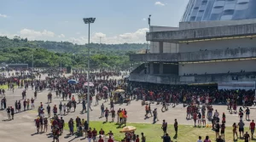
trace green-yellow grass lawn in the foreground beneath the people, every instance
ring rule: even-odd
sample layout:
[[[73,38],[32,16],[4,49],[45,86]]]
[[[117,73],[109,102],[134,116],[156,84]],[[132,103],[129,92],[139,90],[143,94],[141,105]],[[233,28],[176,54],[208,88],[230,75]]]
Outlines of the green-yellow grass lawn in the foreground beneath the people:
[[[136,133],[141,135],[140,133],[144,133],[146,136],[147,142],[161,142],[161,135],[163,135],[163,131],[161,129],[160,124],[148,124],[148,123],[127,123],[127,126],[134,126],[137,128]],[[123,139],[124,133],[119,133],[119,125],[116,125],[115,122],[90,122],[90,128],[96,128],[97,131],[102,128],[105,133],[112,130],[114,139],[121,140]],[[68,130],[68,125],[65,127]],[[250,133],[249,128],[245,128],[245,132],[248,131]],[[179,125],[177,139],[173,139],[175,135],[173,125],[169,125],[167,128],[167,133],[171,134],[171,138],[174,142],[195,142],[198,139],[198,136],[201,135],[202,139],[208,135],[212,141],[215,141],[215,132],[212,131],[212,128],[194,128],[189,125]],[[238,133],[239,136],[239,133]],[[254,139],[255,140],[255,139]],[[233,142],[232,136],[232,128],[228,127],[225,129],[225,142]],[[238,139],[236,142],[244,141],[243,139]]]

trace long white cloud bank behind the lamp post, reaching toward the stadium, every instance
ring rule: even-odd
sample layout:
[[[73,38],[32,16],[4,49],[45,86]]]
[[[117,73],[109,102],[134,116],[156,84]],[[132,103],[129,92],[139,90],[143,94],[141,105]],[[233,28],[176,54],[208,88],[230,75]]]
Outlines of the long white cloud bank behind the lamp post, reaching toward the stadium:
[[[102,37],[102,43],[107,44],[119,44],[119,43],[146,43],[146,32],[148,28],[138,29],[134,32],[127,32],[119,34],[113,37],[108,37],[102,32],[93,33],[90,37],[91,43],[100,43],[100,37]],[[84,44],[88,43],[88,37],[71,37],[68,42]]]

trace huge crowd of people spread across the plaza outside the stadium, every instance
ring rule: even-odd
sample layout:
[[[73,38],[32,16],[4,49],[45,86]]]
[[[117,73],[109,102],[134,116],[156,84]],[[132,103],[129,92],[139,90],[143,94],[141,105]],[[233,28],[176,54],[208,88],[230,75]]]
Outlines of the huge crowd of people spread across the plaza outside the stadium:
[[[19,71],[17,71],[19,72]],[[255,123],[253,120],[250,120],[250,109],[248,105],[255,104],[254,92],[253,90],[219,90],[215,87],[195,87],[195,86],[169,86],[169,85],[155,85],[148,83],[138,83],[138,82],[126,82],[125,79],[113,79],[113,76],[122,76],[120,71],[95,71],[91,74],[90,81],[93,85],[90,86],[90,94],[87,94],[87,87],[84,83],[87,82],[87,76],[84,73],[79,71],[73,71],[73,74],[69,77],[47,77],[45,79],[34,79],[24,76],[26,73],[15,73],[15,75],[20,75],[21,77],[4,77],[0,79],[1,84],[8,86],[7,90],[15,90],[17,88],[24,88],[22,92],[22,100],[17,100],[13,106],[7,106],[7,99],[5,96],[5,89],[0,90],[0,94],[3,96],[1,100],[1,108],[6,109],[8,117],[10,120],[13,120],[15,113],[20,113],[21,106],[23,105],[23,110],[34,109],[34,101],[37,99],[37,95],[40,92],[43,92],[45,89],[49,88],[50,92],[46,96],[48,103],[52,103],[53,95],[57,98],[62,98],[62,100],[67,100],[67,102],[56,105],[43,105],[43,102],[38,106],[38,118],[35,119],[35,124],[37,127],[37,132],[47,132],[48,125],[50,122],[53,139],[59,141],[59,136],[63,132],[65,127],[65,122],[62,119],[62,116],[66,116],[73,109],[76,111],[77,105],[82,105],[81,113],[87,112],[87,106],[93,102],[95,99],[96,105],[99,105],[98,101],[104,99],[105,102],[109,101],[110,107],[105,106],[104,104],[100,105],[100,116],[105,117],[105,122],[116,122],[119,125],[126,125],[128,118],[128,112],[125,108],[119,110],[114,110],[114,105],[119,103],[120,100],[123,102],[126,98],[129,100],[133,99],[142,99],[142,105],[145,107],[145,118],[148,118],[148,115],[153,116],[153,122],[159,121],[158,111],[156,108],[151,109],[151,103],[157,103],[162,105],[161,111],[168,111],[168,106],[182,104],[183,107],[186,107],[186,119],[193,120],[195,127],[207,127],[207,121],[212,122],[212,130],[216,133],[215,139],[218,142],[223,142],[225,139],[225,123],[226,116],[225,113],[222,115],[219,114],[218,110],[213,109],[213,104],[227,105],[230,114],[236,114],[239,117],[239,122],[232,125],[233,138],[238,139],[237,129],[240,132],[240,138],[244,139],[253,139],[253,133],[255,129]],[[49,73],[50,74],[50,73]],[[38,74],[40,76],[40,74]],[[28,79],[27,79],[28,78]],[[40,78],[40,77],[39,77]],[[69,80],[76,80],[77,83],[69,83]],[[88,82],[87,82],[88,83]],[[85,86],[85,87],[84,87]],[[34,91],[34,96],[31,99],[26,97],[26,90],[31,89]],[[123,89],[124,92],[115,93],[117,89]],[[77,94],[78,97],[76,97]],[[87,100],[87,95],[90,95],[90,100]],[[77,99],[76,99],[77,98]],[[89,105],[87,105],[89,104]],[[128,105],[128,103],[127,103]],[[237,106],[241,107],[237,111]],[[52,107],[52,108],[51,108]],[[93,111],[89,108],[90,111]],[[44,116],[44,113],[47,111],[47,116]],[[53,116],[51,115],[53,112]],[[206,113],[207,112],[207,113]],[[244,133],[245,124],[242,122],[243,116],[246,116],[247,121],[251,121],[249,128],[251,133]],[[59,116],[61,116],[59,118]],[[108,119],[108,117],[110,118]],[[222,116],[222,117],[220,117]],[[75,120],[75,122],[74,122]],[[84,119],[71,118],[68,122],[68,128],[70,134],[76,133],[78,136],[84,136],[89,141],[95,141],[96,136],[105,135],[104,130],[99,130],[97,133],[96,128],[88,128],[88,123]],[[76,126],[74,128],[74,125]],[[177,119],[173,123],[175,135],[177,136]],[[164,142],[170,142],[171,137],[166,132],[167,122],[166,120],[162,123],[162,129],[164,135],[162,139]],[[74,132],[74,129],[77,132]],[[101,133],[103,132],[103,134]],[[107,133],[109,139],[113,140],[113,133]],[[125,133],[125,142],[133,141],[146,141],[143,133],[140,136],[134,132]],[[201,136],[198,139],[198,142],[201,142]],[[208,136],[204,142],[211,141]]]

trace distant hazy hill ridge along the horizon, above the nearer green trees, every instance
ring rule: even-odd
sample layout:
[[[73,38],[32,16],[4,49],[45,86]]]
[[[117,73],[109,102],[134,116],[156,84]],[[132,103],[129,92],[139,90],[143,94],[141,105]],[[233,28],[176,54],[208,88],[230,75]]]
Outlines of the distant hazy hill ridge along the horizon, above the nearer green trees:
[[[124,44],[99,44],[90,43],[90,45],[78,45],[68,42],[49,42],[49,41],[28,41],[26,38],[15,37],[9,39],[8,37],[0,37],[0,48],[45,48],[49,51],[58,53],[80,53],[86,50],[87,47],[91,48],[92,53],[113,53],[113,52],[138,52],[147,48],[147,44],[143,43],[124,43]]]

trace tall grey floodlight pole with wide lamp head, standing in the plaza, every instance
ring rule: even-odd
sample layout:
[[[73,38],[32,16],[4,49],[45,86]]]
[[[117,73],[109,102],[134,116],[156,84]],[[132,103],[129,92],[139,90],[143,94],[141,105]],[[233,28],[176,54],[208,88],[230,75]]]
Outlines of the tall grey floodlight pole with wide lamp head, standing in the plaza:
[[[88,24],[88,71],[87,71],[87,122],[88,126],[90,125],[90,23],[94,23],[96,18],[84,18],[84,24]]]

